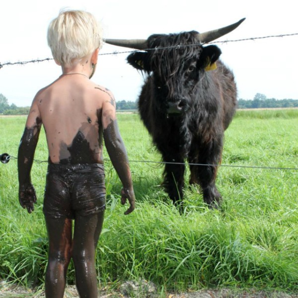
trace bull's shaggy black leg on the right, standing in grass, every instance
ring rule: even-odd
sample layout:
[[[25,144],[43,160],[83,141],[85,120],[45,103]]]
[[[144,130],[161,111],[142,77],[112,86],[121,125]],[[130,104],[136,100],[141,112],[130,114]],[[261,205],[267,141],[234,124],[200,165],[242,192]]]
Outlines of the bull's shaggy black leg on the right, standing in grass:
[[[210,208],[219,207],[222,196],[216,187],[218,164],[221,163],[222,143],[214,148],[200,148],[189,158],[189,163],[206,164],[190,165],[190,184],[199,184],[202,188],[203,199]],[[194,153],[194,152],[193,152]]]

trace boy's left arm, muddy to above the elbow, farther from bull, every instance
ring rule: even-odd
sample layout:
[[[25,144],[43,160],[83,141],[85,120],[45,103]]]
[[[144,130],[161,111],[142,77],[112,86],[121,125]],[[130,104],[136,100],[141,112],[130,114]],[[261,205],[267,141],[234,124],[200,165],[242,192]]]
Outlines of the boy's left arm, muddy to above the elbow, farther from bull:
[[[36,203],[36,194],[31,183],[30,172],[41,125],[42,121],[37,106],[37,100],[34,99],[17,155],[19,203],[23,208],[27,208],[28,213],[34,210],[34,203]]]

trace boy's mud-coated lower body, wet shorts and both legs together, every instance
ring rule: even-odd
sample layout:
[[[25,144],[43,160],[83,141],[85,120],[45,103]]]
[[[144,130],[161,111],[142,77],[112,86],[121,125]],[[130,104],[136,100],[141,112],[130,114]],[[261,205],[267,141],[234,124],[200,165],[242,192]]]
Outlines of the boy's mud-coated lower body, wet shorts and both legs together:
[[[49,164],[43,206],[50,242],[47,297],[63,296],[71,257],[80,297],[97,297],[95,248],[104,210],[103,165]]]

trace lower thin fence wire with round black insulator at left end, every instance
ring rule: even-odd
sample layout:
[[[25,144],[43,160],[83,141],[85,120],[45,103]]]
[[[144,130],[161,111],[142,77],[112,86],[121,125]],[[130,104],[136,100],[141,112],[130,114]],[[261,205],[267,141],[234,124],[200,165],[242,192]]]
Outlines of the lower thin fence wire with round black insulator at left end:
[[[7,153],[4,153],[7,154]],[[3,154],[1,154],[3,155]],[[8,155],[8,154],[7,154]],[[17,159],[15,156],[8,155],[8,160]],[[48,162],[48,160],[38,160],[33,159],[37,163]],[[104,158],[104,161],[111,161],[108,158]],[[8,162],[8,161],[7,161]],[[5,163],[7,163],[5,162]],[[268,169],[268,170],[298,170],[298,168],[294,167],[270,167],[270,166],[255,166],[255,165],[236,165],[236,164],[205,164],[205,163],[185,163],[185,162],[168,162],[168,161],[152,161],[152,160],[129,160],[130,163],[138,162],[138,163],[157,163],[157,164],[176,164],[176,165],[197,165],[197,166],[222,166],[222,167],[237,167],[237,168],[253,168],[253,169]]]

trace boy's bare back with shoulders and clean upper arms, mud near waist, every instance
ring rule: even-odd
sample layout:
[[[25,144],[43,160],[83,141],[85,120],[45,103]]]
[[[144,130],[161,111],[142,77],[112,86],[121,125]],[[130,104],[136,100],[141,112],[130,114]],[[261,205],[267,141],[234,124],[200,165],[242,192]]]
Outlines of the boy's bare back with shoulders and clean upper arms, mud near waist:
[[[116,119],[115,100],[83,74],[62,75],[37,93],[29,119],[44,126],[49,162],[103,163],[102,131]]]

